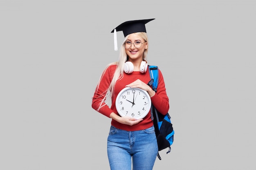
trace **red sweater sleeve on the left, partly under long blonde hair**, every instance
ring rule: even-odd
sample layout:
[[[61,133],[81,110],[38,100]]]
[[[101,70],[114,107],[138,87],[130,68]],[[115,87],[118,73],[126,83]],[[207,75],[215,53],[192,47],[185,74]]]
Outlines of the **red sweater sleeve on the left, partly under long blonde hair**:
[[[106,104],[105,102],[106,99],[103,102],[102,100],[105,98],[107,94],[107,90],[112,81],[113,75],[115,73],[115,69],[116,69],[116,65],[110,65],[108,68],[106,68],[105,72],[103,72],[103,74],[101,75],[99,84],[97,85],[94,92],[94,96],[92,97],[92,108],[109,118],[110,118],[110,113],[112,113],[113,111]]]

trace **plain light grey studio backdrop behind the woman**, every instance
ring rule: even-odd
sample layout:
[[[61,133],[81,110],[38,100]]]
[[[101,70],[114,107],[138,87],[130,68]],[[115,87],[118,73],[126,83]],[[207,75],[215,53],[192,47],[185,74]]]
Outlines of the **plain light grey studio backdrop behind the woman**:
[[[92,95],[112,29],[149,18],[175,130],[154,169],[256,169],[254,0],[0,0],[1,170],[110,169]]]

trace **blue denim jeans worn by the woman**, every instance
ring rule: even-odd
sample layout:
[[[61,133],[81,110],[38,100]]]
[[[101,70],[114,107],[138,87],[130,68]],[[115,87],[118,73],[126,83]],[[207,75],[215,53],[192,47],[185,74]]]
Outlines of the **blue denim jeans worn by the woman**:
[[[158,147],[154,126],[141,131],[110,127],[108,160],[111,170],[152,170]]]

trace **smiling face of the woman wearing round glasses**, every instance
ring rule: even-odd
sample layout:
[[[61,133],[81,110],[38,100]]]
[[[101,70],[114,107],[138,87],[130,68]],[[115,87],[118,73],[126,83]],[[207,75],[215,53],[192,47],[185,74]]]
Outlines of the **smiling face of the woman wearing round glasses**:
[[[142,44],[140,44],[140,42]],[[125,48],[126,54],[128,55],[129,59],[142,59],[144,50],[148,48],[148,43],[145,42],[143,38],[134,33],[128,36],[128,39],[125,42],[128,48]],[[130,45],[131,44],[131,45]],[[141,45],[141,47],[139,47]]]

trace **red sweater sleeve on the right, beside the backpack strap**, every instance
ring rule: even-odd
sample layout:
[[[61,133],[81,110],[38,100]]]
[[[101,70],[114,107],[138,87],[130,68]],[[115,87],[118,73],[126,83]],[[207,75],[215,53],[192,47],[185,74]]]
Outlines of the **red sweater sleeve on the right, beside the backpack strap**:
[[[164,77],[162,72],[158,69],[158,86],[156,94],[151,98],[151,102],[163,115],[166,115],[169,111],[169,98],[166,94],[166,88],[164,83]]]

